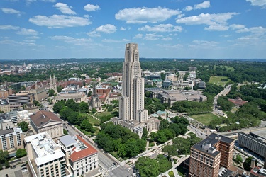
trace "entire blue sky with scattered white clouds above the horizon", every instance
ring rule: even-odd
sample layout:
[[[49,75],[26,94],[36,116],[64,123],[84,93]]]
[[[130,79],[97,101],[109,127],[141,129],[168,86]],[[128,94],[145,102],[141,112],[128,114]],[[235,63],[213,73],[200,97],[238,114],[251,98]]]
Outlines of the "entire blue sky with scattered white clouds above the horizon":
[[[0,59],[265,59],[266,0],[1,0]]]

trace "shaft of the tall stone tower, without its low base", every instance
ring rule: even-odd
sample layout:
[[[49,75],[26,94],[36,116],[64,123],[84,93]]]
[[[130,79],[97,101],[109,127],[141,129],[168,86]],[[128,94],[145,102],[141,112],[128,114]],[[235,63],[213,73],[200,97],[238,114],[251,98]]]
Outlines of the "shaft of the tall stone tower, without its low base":
[[[122,84],[119,118],[138,122],[148,120],[148,110],[144,109],[144,79],[141,77],[138,44],[126,44]]]

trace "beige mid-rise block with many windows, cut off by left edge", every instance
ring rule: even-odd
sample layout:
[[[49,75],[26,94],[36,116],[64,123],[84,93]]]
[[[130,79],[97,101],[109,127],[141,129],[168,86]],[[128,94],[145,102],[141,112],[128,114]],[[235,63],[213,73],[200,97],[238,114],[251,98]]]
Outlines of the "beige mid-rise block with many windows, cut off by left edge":
[[[0,130],[0,149],[13,151],[23,148],[23,133],[20,127]]]

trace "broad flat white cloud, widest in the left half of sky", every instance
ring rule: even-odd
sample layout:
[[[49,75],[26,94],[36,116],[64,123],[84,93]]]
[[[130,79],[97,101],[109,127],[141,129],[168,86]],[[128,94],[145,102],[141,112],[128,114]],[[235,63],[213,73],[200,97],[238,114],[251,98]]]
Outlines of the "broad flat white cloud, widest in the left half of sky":
[[[47,26],[48,28],[65,28],[92,24],[88,18],[64,15],[34,16],[29,21],[35,25]]]

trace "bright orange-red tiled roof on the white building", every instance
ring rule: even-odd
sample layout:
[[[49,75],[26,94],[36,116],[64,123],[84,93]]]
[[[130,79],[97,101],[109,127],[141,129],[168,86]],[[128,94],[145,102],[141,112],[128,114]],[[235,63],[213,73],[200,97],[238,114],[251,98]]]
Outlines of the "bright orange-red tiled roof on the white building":
[[[79,151],[74,151],[76,148],[74,147],[72,150],[74,151],[70,155],[71,161],[78,161],[79,159],[83,159],[86,156],[91,156],[92,154],[96,154],[97,151],[92,147],[89,143],[87,143],[82,137],[79,137],[79,135],[76,135],[80,142],[82,142],[87,148],[81,149]]]

